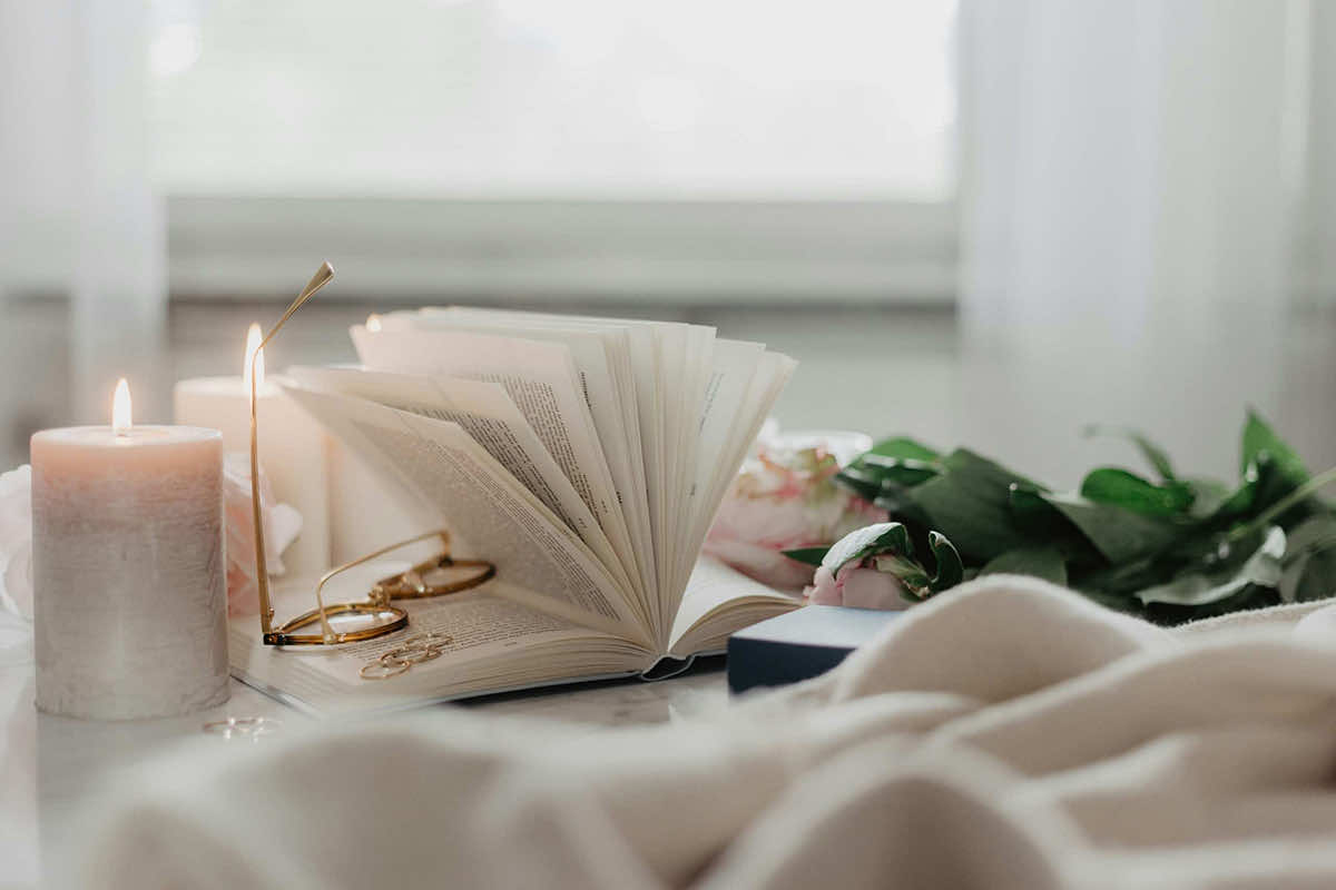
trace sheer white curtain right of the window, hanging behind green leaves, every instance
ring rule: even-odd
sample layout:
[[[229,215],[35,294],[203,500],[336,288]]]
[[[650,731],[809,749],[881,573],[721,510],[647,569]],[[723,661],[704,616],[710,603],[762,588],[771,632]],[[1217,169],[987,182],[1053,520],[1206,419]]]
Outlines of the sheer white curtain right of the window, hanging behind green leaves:
[[[1246,403],[1305,423],[1285,314],[1336,282],[1333,7],[963,0],[966,436],[1132,423],[1222,474]]]

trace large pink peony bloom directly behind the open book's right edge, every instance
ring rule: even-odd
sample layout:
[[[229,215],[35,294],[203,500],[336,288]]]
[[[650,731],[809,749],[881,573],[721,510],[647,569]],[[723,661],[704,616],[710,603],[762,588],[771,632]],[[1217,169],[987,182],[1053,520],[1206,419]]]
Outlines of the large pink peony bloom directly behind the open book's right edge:
[[[799,588],[812,567],[784,550],[826,547],[886,512],[835,484],[839,458],[870,447],[859,434],[808,434],[758,440],[705,538],[704,551],[762,583]]]

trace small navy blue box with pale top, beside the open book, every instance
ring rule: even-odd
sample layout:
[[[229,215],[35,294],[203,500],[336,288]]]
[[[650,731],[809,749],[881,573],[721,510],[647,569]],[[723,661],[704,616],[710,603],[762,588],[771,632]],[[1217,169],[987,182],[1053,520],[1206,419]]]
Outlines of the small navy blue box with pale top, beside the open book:
[[[784,686],[824,674],[903,612],[803,606],[728,638],[728,689]]]

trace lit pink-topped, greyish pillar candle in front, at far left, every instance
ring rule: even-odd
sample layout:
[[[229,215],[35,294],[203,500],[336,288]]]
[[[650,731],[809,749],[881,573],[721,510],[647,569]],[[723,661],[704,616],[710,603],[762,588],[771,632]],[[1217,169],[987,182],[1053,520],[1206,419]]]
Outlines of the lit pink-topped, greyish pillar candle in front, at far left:
[[[167,717],[227,701],[223,443],[112,426],[32,436],[37,709]]]

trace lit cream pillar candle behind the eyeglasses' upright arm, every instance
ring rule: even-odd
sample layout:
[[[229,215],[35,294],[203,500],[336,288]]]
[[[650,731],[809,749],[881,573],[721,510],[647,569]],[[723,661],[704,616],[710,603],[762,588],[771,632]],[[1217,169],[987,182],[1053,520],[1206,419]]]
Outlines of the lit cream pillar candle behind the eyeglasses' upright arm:
[[[250,452],[250,355],[259,346],[253,324],[246,343],[243,375],[182,380],[172,392],[176,423],[212,427],[223,434],[226,451]],[[329,488],[325,432],[273,380],[265,379],[265,355],[257,362],[259,466],[274,496],[302,514],[302,531],[283,552],[289,576],[319,575],[330,566]]]

